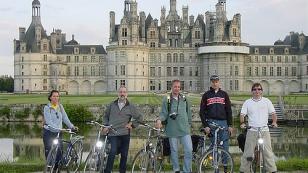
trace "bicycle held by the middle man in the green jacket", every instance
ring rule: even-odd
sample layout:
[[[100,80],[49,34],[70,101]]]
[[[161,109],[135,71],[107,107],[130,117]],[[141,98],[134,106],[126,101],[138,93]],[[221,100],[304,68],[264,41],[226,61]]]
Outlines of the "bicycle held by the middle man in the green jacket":
[[[132,173],[135,171],[140,172],[153,172],[159,173],[163,170],[163,137],[164,130],[157,129],[149,124],[139,122],[139,124],[148,129],[148,137],[146,139],[144,148],[142,148],[135,155],[132,164]],[[156,132],[156,135],[153,135]],[[153,144],[152,140],[155,139],[156,143]]]

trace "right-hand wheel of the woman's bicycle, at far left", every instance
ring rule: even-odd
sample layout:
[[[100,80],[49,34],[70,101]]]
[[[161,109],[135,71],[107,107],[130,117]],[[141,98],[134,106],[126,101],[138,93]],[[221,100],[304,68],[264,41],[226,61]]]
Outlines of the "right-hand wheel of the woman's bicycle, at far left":
[[[68,156],[67,170],[68,172],[77,172],[82,159],[83,144],[81,140],[76,141],[71,148]]]

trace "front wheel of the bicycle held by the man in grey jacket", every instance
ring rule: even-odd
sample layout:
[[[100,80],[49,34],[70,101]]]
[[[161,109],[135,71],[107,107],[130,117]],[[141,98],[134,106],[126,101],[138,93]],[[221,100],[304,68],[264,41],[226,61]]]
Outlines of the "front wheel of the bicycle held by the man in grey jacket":
[[[102,155],[99,151],[90,151],[85,167],[83,169],[84,172],[87,173],[98,173],[100,172]]]

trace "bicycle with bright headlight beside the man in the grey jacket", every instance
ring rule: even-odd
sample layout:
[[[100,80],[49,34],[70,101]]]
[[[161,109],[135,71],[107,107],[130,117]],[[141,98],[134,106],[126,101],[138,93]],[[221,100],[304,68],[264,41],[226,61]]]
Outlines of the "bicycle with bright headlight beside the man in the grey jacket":
[[[106,168],[110,146],[108,144],[109,131],[107,132],[106,135],[104,135],[102,140],[101,140],[101,131],[103,130],[103,128],[111,129],[116,133],[117,131],[116,129],[112,128],[112,125],[108,126],[102,125],[96,121],[91,121],[87,124],[94,125],[99,128],[97,128],[96,141],[90,153],[87,156],[83,171],[87,173],[95,173],[95,172],[102,173]]]

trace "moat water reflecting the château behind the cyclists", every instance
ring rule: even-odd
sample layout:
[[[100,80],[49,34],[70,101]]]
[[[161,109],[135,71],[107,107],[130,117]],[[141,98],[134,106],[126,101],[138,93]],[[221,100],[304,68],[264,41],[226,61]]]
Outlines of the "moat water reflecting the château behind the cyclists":
[[[194,123],[193,133],[199,134],[198,129],[201,124]],[[90,126],[78,125],[84,140],[84,158],[90,150],[91,142],[95,138],[95,129]],[[236,136],[240,130],[235,130],[236,134],[230,141],[230,152],[234,158],[239,158],[242,152],[237,146]],[[44,162],[44,149],[42,142],[42,129],[40,123],[2,123],[0,124],[0,160],[3,161],[41,161]],[[144,129],[135,129],[132,133],[130,145],[129,162],[134,154],[143,147],[147,133]],[[307,127],[287,127],[271,131],[272,146],[275,155],[280,159],[292,157],[308,157],[308,128]]]

